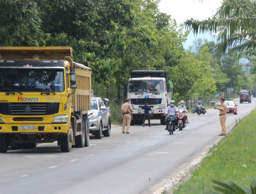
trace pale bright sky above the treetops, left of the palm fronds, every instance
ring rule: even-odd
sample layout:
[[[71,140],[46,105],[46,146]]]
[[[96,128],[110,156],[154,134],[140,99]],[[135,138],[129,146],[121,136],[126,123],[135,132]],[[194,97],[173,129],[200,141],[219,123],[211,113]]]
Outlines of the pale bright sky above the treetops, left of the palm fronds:
[[[199,21],[212,18],[212,15],[216,13],[216,9],[220,6],[221,0],[204,0],[203,3],[201,3],[201,0],[161,0],[159,4],[160,11],[170,14],[172,19],[176,19],[178,26],[191,18]],[[187,42],[183,44],[185,49],[188,49],[196,38],[212,40],[210,34],[194,36],[192,32],[187,38]]]

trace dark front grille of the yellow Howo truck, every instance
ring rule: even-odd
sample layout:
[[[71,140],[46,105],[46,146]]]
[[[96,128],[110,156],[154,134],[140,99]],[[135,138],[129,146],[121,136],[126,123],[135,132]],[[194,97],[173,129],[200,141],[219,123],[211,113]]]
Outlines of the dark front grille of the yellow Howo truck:
[[[50,115],[58,113],[60,103],[0,103],[5,115]]]

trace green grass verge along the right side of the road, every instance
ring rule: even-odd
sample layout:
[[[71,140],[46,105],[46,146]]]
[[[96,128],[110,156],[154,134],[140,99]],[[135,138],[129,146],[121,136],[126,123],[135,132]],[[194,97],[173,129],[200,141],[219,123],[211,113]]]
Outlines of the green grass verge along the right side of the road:
[[[224,141],[203,159],[173,194],[203,194],[212,191],[212,179],[250,186],[250,177],[256,175],[256,110],[228,134]],[[247,167],[242,167],[243,165]]]

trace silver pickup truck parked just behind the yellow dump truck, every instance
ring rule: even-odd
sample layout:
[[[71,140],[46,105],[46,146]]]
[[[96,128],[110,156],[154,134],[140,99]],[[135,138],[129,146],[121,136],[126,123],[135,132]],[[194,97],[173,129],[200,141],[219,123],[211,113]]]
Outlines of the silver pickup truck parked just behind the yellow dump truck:
[[[110,108],[105,106],[108,101],[107,98],[104,101],[100,97],[91,98],[91,110],[88,111],[88,115],[92,113],[89,116],[89,129],[95,139],[101,139],[102,134],[105,137],[110,136]]]

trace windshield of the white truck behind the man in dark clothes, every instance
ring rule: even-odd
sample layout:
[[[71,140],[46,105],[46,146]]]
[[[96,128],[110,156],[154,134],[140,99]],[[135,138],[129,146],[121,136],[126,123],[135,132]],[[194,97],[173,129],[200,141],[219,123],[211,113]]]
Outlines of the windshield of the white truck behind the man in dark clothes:
[[[163,80],[132,80],[128,87],[129,93],[142,92],[142,93],[163,93],[164,81]]]

